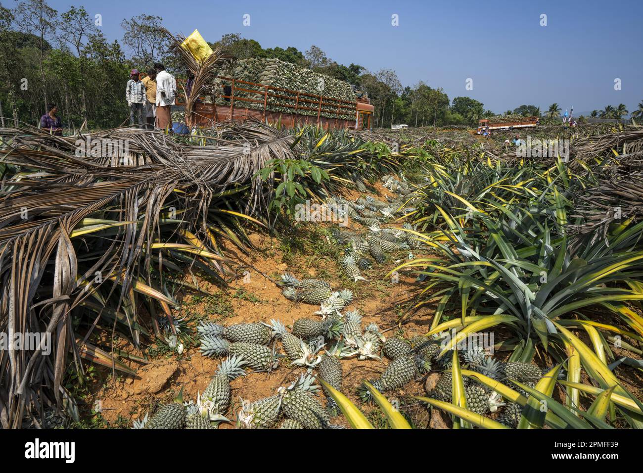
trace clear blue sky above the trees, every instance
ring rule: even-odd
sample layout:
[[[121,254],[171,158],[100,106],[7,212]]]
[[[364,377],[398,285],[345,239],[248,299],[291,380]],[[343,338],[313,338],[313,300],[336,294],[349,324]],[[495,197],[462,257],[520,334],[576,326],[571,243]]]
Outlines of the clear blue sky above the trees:
[[[63,12],[84,5],[102,31],[120,39],[120,22],[163,17],[172,32],[198,28],[208,40],[240,33],[264,48],[316,44],[337,62],[390,68],[403,86],[423,80],[449,98],[467,95],[496,113],[552,102],[577,112],[643,100],[643,2],[598,1],[196,1],[48,3]],[[14,6],[15,1],[3,1]],[[243,26],[243,15],[250,26]],[[392,26],[391,15],[399,15]],[[547,26],[540,26],[540,15]],[[473,90],[466,80],[473,79]],[[621,90],[614,80],[621,80]]]

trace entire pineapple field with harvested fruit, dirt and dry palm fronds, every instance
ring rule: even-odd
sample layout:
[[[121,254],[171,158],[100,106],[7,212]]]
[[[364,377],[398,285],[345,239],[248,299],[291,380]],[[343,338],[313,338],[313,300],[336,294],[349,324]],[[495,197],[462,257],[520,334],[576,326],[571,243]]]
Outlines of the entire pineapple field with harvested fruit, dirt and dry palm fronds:
[[[231,58],[175,41],[207,95]],[[329,128],[1,129],[0,331],[53,333],[3,427],[643,426],[640,127]]]

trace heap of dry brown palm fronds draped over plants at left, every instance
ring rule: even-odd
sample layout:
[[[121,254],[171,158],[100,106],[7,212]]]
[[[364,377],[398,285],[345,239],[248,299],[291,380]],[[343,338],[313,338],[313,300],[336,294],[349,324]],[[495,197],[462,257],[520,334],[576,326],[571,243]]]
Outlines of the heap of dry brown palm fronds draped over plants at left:
[[[242,212],[264,218],[272,194],[272,181],[255,176],[267,161],[293,156],[294,136],[242,122],[217,125],[203,146],[142,129],[89,140],[128,146],[77,156],[73,138],[0,129],[0,332],[51,335],[48,356],[34,347],[0,351],[5,428],[61,404],[69,353],[81,371],[82,357],[127,370],[89,337],[98,325],[134,344],[149,338],[141,304],[152,315],[159,304],[171,320],[168,268],[230,274],[217,241],[250,245]]]

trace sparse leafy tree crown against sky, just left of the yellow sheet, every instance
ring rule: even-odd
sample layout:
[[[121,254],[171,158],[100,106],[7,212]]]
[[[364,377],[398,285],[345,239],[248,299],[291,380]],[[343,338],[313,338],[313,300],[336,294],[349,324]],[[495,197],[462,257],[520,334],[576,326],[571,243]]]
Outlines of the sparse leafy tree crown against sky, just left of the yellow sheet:
[[[154,15],[138,15],[121,22],[123,44],[133,51],[132,60],[146,69],[167,53],[170,42],[161,31],[162,23],[163,18]]]

